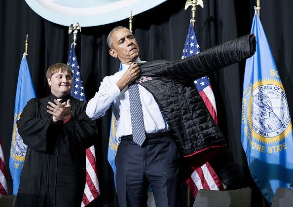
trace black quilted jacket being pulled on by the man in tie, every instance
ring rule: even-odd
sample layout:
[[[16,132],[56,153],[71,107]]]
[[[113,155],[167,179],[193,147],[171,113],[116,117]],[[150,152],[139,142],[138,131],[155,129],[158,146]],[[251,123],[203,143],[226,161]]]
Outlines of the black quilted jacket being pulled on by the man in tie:
[[[183,60],[158,60],[140,64],[141,76],[136,82],[153,95],[181,156],[187,157],[211,147],[225,145],[225,138],[193,80],[244,61],[253,56],[255,51],[255,36],[246,35]]]

